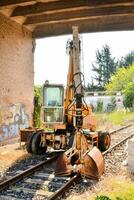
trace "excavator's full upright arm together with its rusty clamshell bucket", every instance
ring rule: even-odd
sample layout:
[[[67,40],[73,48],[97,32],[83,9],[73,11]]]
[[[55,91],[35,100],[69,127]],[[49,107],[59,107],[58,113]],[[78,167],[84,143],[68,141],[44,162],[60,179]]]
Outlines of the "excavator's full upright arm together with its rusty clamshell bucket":
[[[73,145],[58,158],[55,174],[80,173],[98,179],[104,171],[104,159],[97,147],[91,147],[83,129],[83,119],[89,114],[84,101],[83,74],[80,66],[80,40],[78,27],[73,27],[73,41],[70,42],[70,65],[66,90],[67,123],[73,123],[75,135]],[[86,114],[85,114],[86,113]],[[98,137],[98,134],[94,134]]]

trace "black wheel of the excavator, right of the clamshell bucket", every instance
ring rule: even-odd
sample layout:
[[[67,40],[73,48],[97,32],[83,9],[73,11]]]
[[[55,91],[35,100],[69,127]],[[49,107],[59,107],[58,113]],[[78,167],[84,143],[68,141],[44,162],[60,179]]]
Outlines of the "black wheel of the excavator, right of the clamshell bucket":
[[[108,132],[99,132],[98,147],[101,151],[106,151],[110,147],[111,137]]]

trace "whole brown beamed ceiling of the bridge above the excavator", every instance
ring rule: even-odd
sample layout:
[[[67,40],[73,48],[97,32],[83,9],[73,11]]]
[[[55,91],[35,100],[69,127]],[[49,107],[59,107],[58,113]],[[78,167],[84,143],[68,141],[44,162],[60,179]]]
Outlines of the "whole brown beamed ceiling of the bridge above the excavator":
[[[134,0],[0,0],[0,13],[34,38],[72,33],[134,30]]]

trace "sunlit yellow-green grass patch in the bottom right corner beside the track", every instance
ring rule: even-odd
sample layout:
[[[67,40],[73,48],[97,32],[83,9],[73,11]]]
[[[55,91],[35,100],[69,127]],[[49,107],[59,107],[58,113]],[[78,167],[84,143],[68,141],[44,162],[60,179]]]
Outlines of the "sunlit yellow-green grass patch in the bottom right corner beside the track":
[[[126,180],[125,177],[112,178],[107,182],[106,188],[107,191],[100,191],[97,193],[97,196],[106,196],[110,200],[134,200],[134,182],[129,179]],[[97,196],[93,197],[92,200],[97,199]]]

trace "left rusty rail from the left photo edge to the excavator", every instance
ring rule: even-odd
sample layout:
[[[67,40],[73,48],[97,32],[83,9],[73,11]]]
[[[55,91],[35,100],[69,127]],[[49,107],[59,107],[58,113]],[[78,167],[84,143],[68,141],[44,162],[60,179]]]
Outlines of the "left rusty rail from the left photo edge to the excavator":
[[[45,164],[53,162],[55,159],[57,159],[57,157],[58,157],[58,155],[53,156],[52,158],[42,161],[39,164],[36,164],[34,167],[31,167],[31,168],[25,170],[24,172],[9,178],[8,180],[5,180],[4,182],[0,183],[0,191],[15,184],[16,182],[22,180],[23,178],[33,174],[35,171],[43,168]]]

